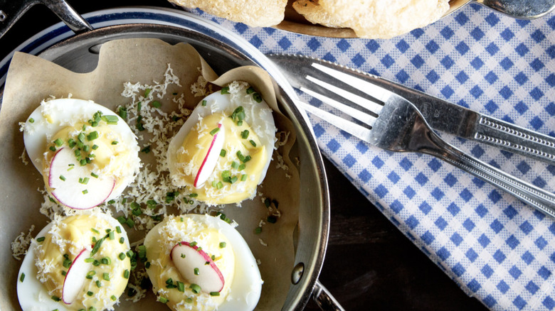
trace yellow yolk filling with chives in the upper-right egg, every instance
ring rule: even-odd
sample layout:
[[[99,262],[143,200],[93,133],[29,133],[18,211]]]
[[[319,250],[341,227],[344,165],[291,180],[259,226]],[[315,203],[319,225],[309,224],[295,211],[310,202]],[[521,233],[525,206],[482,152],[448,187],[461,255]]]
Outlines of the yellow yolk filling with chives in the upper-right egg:
[[[208,180],[195,188],[194,180],[211,146],[211,131],[223,126],[225,143],[218,163]],[[248,136],[245,133],[248,132]],[[260,175],[265,166],[265,146],[255,131],[243,121],[236,124],[223,114],[211,114],[201,119],[185,137],[177,162],[183,169],[183,180],[199,200],[211,204],[240,202],[254,195]],[[225,153],[225,155],[224,155]]]

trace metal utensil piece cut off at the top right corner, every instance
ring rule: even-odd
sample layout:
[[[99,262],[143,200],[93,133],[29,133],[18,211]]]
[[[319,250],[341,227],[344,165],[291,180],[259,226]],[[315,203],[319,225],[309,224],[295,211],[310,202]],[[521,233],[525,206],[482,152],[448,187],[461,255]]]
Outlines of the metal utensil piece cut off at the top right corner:
[[[555,0],[473,0],[508,16],[533,19],[544,16],[555,7]]]

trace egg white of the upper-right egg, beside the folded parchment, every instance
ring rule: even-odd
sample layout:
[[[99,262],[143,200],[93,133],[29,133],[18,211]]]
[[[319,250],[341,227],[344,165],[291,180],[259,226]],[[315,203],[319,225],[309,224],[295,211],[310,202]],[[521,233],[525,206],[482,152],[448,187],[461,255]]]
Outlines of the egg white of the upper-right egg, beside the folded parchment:
[[[221,94],[221,92],[215,92],[203,100],[206,100],[206,105],[202,105],[203,100],[195,107],[191,112],[189,118],[185,121],[181,129],[176,133],[174,138],[171,138],[168,147],[168,165],[170,173],[176,172],[177,164],[177,151],[183,145],[183,141],[192,127],[195,126],[199,120],[203,117],[221,113],[224,115],[231,115],[233,111],[239,106],[243,106],[245,111],[244,121],[250,126],[250,129],[255,131],[256,135],[260,139],[260,143],[265,146],[267,151],[267,158],[265,160],[265,165],[260,174],[260,179],[258,180],[258,185],[264,180],[268,167],[270,166],[270,161],[272,160],[272,153],[275,143],[275,123],[272,116],[272,109],[268,107],[268,104],[264,101],[255,102],[250,99],[250,95],[245,95],[239,99],[243,100],[232,100],[231,94]]]

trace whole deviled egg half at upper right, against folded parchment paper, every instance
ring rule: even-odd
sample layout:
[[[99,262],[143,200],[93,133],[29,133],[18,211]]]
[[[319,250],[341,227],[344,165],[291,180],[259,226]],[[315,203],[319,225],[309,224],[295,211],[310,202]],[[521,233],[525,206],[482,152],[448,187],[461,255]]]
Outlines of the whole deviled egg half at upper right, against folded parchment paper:
[[[252,198],[272,160],[275,132],[260,94],[232,82],[202,99],[171,139],[171,182],[211,205]]]

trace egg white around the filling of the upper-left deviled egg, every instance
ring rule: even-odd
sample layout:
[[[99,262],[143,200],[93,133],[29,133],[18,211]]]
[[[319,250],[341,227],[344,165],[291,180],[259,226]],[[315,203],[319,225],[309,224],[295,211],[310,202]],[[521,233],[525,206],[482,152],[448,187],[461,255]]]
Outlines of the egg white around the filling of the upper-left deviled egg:
[[[110,129],[120,135],[122,138],[120,143],[125,144],[129,151],[132,151],[132,158],[137,158],[137,165],[135,165],[134,171],[128,172],[125,176],[125,182],[117,183],[110,197],[107,198],[107,200],[112,200],[122,194],[127,185],[134,179],[134,174],[138,173],[139,170],[139,145],[137,137],[129,128],[127,122],[114,111],[84,99],[64,98],[42,102],[25,122],[23,143],[31,162],[35,165],[38,172],[42,174],[44,153],[48,150],[48,143],[51,143],[51,138],[66,126],[80,122],[86,123],[97,111],[102,112],[103,115],[117,116],[117,124],[111,124]],[[55,118],[54,121],[49,123],[45,119],[45,114]],[[29,121],[30,119],[33,120],[32,123]]]

